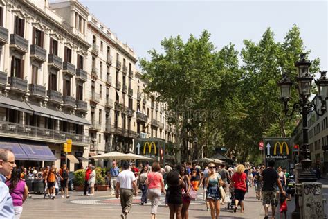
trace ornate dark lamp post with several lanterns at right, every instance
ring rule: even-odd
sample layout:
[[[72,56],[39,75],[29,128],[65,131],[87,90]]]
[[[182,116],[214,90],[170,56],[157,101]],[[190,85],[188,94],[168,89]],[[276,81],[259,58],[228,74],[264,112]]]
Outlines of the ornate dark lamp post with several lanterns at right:
[[[298,77],[296,78],[298,85],[298,102],[293,104],[293,109],[289,114],[288,102],[291,98],[291,87],[293,82],[286,75],[282,80],[277,83],[280,86],[281,100],[284,103],[284,113],[286,116],[293,116],[294,112],[302,114],[302,126],[303,126],[303,145],[300,148],[300,163],[302,169],[299,170],[296,179],[298,183],[302,182],[316,182],[316,175],[311,170],[311,153],[309,150],[309,137],[307,127],[307,114],[310,112],[316,112],[319,116],[322,116],[326,112],[326,99],[328,98],[328,80],[326,78],[326,71],[320,71],[321,77],[316,80],[318,86],[318,98],[321,100],[320,110],[317,109],[317,105],[313,102],[309,102],[308,98],[311,95],[311,82],[313,77],[309,73],[309,67],[311,62],[305,59],[305,54],[300,55],[300,60],[295,62],[295,67],[298,68]],[[298,204],[298,195],[295,197],[295,211],[292,213],[292,218],[300,218],[300,206]]]

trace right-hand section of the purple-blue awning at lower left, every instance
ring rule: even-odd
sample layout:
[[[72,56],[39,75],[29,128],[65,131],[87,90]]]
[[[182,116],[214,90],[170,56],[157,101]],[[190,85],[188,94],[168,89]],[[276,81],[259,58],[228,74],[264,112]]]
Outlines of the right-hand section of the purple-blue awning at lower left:
[[[57,158],[48,146],[37,145],[30,142],[19,142],[19,145],[28,156],[28,160],[32,161],[55,161]]]

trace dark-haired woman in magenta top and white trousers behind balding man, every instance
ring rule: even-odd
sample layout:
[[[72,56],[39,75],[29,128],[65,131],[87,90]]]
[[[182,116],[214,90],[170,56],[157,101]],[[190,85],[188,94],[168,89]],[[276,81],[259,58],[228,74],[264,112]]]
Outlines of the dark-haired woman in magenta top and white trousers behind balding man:
[[[12,204],[14,204],[15,219],[19,219],[23,211],[23,202],[28,197],[28,186],[25,180],[21,179],[21,170],[16,168],[12,170],[10,180],[8,180],[6,184],[9,187]]]

